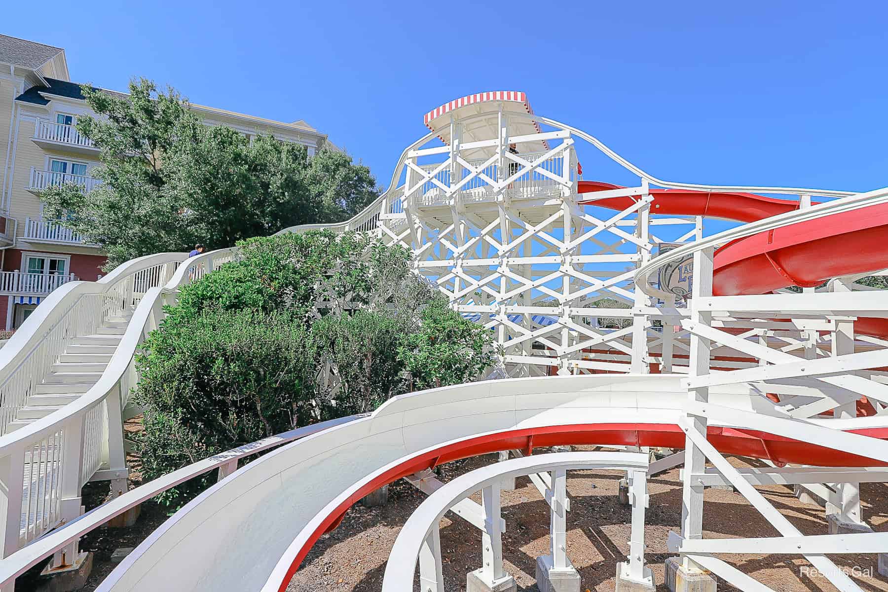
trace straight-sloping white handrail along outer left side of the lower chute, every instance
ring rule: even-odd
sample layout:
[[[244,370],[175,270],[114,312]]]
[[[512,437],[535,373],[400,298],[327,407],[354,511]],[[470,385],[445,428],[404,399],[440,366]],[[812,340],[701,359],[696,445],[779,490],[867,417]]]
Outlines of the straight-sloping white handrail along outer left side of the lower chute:
[[[45,534],[28,546],[16,551],[11,556],[4,558],[3,561],[0,561],[0,588],[3,588],[22,573],[28,571],[29,568],[39,563],[45,557],[62,549],[68,543],[76,541],[84,534],[91,533],[99,526],[107,523],[108,520],[120,516],[126,510],[155,497],[158,493],[163,493],[180,483],[184,483],[188,479],[208,473],[210,470],[221,469],[246,456],[258,454],[269,448],[274,448],[275,446],[281,446],[299,438],[311,436],[312,434],[327,430],[342,423],[352,422],[359,417],[361,416],[349,415],[327,422],[315,423],[313,425],[297,428],[296,430],[289,430],[268,438],[263,438],[250,444],[238,446],[237,448],[232,448],[224,453],[215,454],[210,456],[210,458],[174,470],[162,477],[154,479],[153,481],[149,481],[145,485],[139,485],[139,487],[136,487],[135,489],[131,489],[122,495],[118,495],[115,499],[91,509],[83,514],[83,516],[75,518],[66,525],[55,529],[52,533]]]

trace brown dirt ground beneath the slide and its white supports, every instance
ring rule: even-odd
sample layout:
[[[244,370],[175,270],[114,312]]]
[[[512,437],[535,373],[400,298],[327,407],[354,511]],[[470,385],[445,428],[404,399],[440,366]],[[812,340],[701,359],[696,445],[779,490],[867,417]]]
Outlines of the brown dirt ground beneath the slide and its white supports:
[[[131,429],[138,429],[137,425]],[[579,450],[594,450],[592,446],[575,446]],[[139,485],[139,459],[132,457],[133,486]],[[442,465],[440,479],[448,481],[469,470],[496,462],[496,455],[485,455]],[[738,467],[749,466],[741,459],[732,458]],[[567,514],[567,555],[582,578],[581,590],[614,590],[616,564],[626,560],[629,550],[630,508],[617,502],[617,484],[622,475],[618,471],[571,471],[567,478],[567,493],[571,511]],[[678,532],[681,520],[681,482],[678,469],[658,475],[648,482],[650,507],[646,513],[646,562],[654,571],[658,590],[664,585],[663,562],[672,554],[666,548],[670,531]],[[823,509],[796,499],[788,487],[758,488],[775,508],[805,534],[827,533]],[[99,504],[107,495],[107,484],[88,485],[84,490],[87,508]],[[878,531],[888,531],[888,485],[861,485],[863,513],[868,523]],[[360,504],[350,509],[332,533],[325,534],[305,558],[288,592],[378,592],[382,587],[385,562],[400,527],[424,501],[420,493],[405,481],[390,486],[389,502],[380,508],[364,508]],[[473,496],[480,501],[480,493]],[[739,494],[723,489],[707,489],[705,493],[704,537],[776,536],[752,506]],[[503,491],[503,535],[505,569],[525,592],[537,590],[534,581],[535,558],[545,555],[549,545],[549,509],[543,497],[528,478],[519,478],[514,491]],[[81,549],[95,555],[93,570],[84,591],[95,590],[115,564],[111,553],[122,547],[136,547],[167,518],[166,510],[146,502],[142,505],[138,522],[129,528],[99,528],[81,542]],[[465,589],[465,574],[481,564],[480,532],[462,518],[453,514],[441,519],[440,541],[444,562],[444,583],[448,592]],[[804,558],[797,556],[721,556],[741,571],[748,573],[778,592],[835,590],[822,576],[805,575],[808,567]],[[852,578],[865,592],[888,592],[888,579],[876,571],[876,556],[833,556],[836,564],[857,567],[860,575]],[[18,581],[17,590],[33,590],[36,574],[43,567],[37,565]],[[719,591],[734,590],[724,581]],[[232,592],[237,592],[232,588]]]

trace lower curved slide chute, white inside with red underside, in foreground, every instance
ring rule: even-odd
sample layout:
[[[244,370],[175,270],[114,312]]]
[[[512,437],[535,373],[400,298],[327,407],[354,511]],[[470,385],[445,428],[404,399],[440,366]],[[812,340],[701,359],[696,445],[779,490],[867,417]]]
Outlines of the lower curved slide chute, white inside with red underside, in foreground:
[[[686,400],[677,375],[497,380],[396,397],[367,417],[284,446],[214,485],[152,533],[98,590],[226,590],[237,581],[243,590],[282,591],[314,541],[335,528],[354,502],[386,483],[498,450],[529,452],[558,444],[682,447],[679,422]],[[741,387],[713,388],[710,403],[730,407],[732,417],[776,413]],[[888,438],[881,416],[830,421],[851,430],[848,438]],[[814,439],[803,442],[730,422],[711,421],[708,438],[722,452],[776,463],[816,456],[823,466],[884,464],[817,446]],[[861,440],[866,441],[871,442]]]

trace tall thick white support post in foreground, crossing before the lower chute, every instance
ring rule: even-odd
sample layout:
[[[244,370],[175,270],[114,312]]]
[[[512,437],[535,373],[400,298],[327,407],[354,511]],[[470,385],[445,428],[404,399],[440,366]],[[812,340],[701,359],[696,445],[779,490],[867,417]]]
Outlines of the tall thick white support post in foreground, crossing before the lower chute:
[[[691,298],[691,320],[709,327],[712,313],[699,305],[700,298],[712,296],[712,259],[713,249],[704,249],[694,253],[694,285]],[[710,340],[700,335],[691,334],[691,353],[689,375],[702,376],[710,373]],[[689,389],[688,399],[706,403],[710,399],[709,387]],[[706,438],[706,418],[688,415],[691,429]],[[703,520],[703,485],[692,480],[692,476],[706,469],[706,456],[694,445],[691,438],[685,440],[685,478],[682,489],[681,534],[685,539],[702,538]],[[682,567],[694,568],[695,565],[686,557],[682,557]]]

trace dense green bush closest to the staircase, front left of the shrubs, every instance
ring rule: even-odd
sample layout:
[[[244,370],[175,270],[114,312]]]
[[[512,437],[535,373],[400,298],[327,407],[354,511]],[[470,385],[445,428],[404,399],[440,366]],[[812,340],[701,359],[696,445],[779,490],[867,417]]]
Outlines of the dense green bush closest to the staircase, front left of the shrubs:
[[[309,332],[281,313],[164,323],[137,358],[146,477],[315,421],[314,358]],[[201,489],[180,486],[166,501]]]

